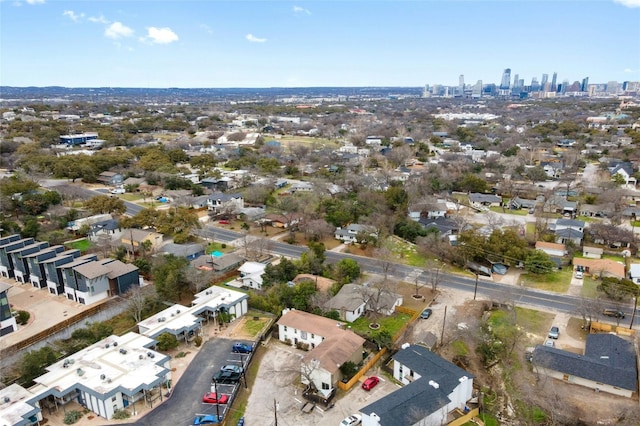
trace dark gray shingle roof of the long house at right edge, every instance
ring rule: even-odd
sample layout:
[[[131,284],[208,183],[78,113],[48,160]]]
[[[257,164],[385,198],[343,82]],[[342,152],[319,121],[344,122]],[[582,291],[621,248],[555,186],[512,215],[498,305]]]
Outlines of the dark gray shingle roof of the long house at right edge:
[[[636,390],[638,374],[633,344],[613,334],[588,335],[584,355],[538,345],[533,362],[594,382]]]

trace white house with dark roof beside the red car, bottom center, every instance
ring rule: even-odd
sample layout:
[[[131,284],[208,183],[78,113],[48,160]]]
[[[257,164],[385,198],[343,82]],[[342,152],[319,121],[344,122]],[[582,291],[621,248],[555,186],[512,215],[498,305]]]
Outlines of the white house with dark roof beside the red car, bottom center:
[[[404,386],[361,408],[362,426],[435,426],[468,411],[474,376],[425,347],[403,345],[393,355],[393,377]]]

